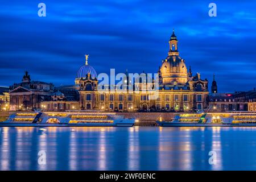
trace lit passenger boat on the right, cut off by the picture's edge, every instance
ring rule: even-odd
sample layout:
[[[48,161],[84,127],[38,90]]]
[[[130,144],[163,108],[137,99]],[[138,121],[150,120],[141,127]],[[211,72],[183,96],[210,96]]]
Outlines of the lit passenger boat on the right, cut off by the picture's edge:
[[[156,121],[158,126],[256,126],[255,112],[177,114],[172,121]]]

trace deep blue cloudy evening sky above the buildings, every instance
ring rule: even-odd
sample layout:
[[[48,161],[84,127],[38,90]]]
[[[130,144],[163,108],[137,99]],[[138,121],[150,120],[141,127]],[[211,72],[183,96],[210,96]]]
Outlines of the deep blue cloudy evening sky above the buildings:
[[[46,3],[46,17],[38,3]],[[208,5],[217,4],[217,17]],[[97,73],[156,73],[175,28],[180,56],[219,92],[256,87],[255,1],[1,1],[0,85],[74,84],[85,63]]]

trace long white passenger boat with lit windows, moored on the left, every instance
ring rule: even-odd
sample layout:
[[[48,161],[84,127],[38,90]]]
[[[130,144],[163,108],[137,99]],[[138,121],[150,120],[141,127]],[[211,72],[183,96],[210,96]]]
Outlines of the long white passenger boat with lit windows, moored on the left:
[[[0,126],[133,126],[134,118],[102,112],[19,112]]]

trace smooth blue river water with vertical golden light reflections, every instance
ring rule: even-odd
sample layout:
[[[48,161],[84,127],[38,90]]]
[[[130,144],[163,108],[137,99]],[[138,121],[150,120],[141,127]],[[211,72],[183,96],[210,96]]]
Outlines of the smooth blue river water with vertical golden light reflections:
[[[229,169],[256,169],[256,127],[0,127],[0,170]]]

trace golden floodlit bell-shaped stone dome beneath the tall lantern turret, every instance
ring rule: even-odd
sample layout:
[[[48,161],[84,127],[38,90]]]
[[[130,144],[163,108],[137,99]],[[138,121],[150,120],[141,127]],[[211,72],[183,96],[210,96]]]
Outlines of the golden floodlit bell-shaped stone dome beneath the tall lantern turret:
[[[163,61],[160,71],[163,84],[174,84],[174,82],[177,82],[177,85],[184,85],[188,81],[185,60],[181,59],[180,56],[168,56]]]

